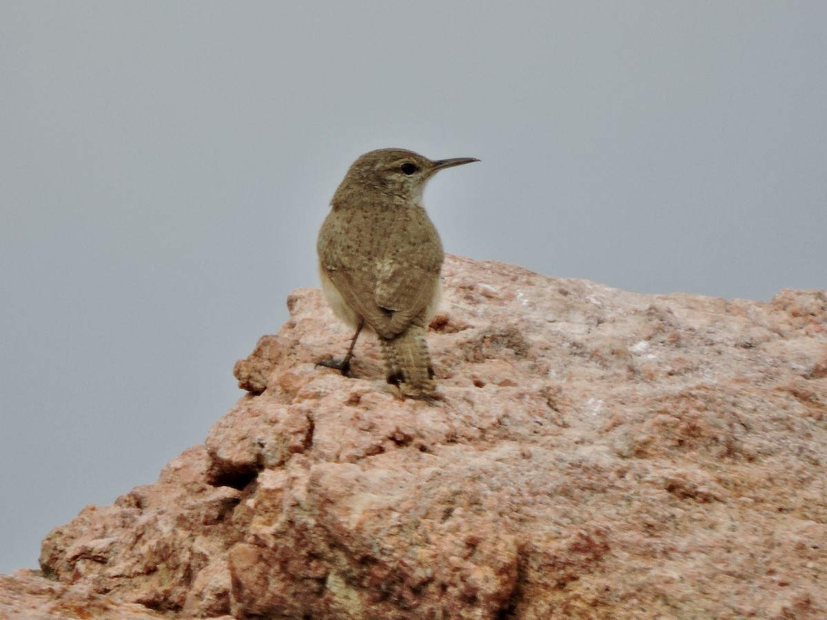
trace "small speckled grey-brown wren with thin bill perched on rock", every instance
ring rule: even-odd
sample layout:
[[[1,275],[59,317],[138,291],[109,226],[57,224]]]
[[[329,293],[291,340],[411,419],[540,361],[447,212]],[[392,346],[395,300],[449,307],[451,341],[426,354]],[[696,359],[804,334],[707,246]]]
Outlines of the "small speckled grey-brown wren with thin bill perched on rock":
[[[425,330],[439,301],[443,253],[422,194],[439,170],[472,161],[479,160],[432,161],[380,149],[347,170],[316,249],[327,302],[356,333],[344,360],[320,365],[347,374],[359,332],[369,327],[379,338],[388,383],[404,396],[437,398]]]

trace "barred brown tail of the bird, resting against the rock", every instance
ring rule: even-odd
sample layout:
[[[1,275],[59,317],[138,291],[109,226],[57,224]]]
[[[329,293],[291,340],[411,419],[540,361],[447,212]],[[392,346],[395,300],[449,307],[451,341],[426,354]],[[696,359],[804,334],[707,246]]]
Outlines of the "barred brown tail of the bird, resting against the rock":
[[[389,384],[398,386],[410,398],[438,398],[424,327],[411,325],[399,336],[390,340],[380,338],[380,342]]]

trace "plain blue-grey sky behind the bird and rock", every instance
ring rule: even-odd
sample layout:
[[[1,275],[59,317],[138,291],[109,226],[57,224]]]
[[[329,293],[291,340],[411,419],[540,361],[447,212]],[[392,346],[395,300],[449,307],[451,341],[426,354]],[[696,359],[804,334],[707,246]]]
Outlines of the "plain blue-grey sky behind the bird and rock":
[[[203,441],[400,146],[446,250],[827,288],[825,2],[0,2],[0,573]]]

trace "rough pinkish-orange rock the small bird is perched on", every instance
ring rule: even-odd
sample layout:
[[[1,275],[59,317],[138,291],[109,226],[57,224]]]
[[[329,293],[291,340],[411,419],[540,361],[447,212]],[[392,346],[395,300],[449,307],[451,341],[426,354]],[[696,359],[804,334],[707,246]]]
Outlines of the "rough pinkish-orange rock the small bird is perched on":
[[[57,583],[0,611],[29,579],[132,605],[101,618],[827,618],[823,291],[443,279],[442,403],[396,398],[372,336],[356,379],[315,367],[351,334],[296,291],[205,444],[50,532]]]

